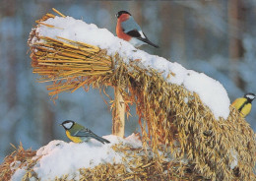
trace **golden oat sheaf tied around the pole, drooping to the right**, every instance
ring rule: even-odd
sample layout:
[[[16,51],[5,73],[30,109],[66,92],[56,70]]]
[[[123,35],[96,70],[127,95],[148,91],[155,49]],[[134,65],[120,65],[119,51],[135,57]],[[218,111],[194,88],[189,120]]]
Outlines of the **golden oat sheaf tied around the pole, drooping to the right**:
[[[44,16],[37,27],[55,29],[42,23],[52,17]],[[118,52],[111,57],[96,46],[62,37],[41,37],[35,30],[29,45],[33,73],[41,76],[41,82],[52,83],[47,87],[50,95],[79,88],[87,91],[90,86],[100,91],[106,86],[118,87],[127,107],[136,103],[144,147],[152,147],[158,155],[159,148],[166,146],[176,159],[185,157],[195,165],[193,172],[206,179],[255,179],[255,135],[233,107],[226,120],[216,120],[196,93],[166,83],[156,70],[142,68],[140,60],[124,63]],[[236,159],[238,164],[231,169]]]

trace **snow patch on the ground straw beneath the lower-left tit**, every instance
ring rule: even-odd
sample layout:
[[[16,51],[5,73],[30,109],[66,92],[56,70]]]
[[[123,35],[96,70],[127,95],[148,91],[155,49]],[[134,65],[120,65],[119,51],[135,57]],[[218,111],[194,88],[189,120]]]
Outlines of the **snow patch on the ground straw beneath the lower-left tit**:
[[[36,151],[32,159],[37,159],[33,166],[34,172],[41,181],[54,180],[54,178],[69,174],[68,179],[79,180],[80,168],[94,168],[98,164],[121,163],[125,156],[121,152],[114,151],[111,147],[115,144],[122,144],[134,149],[142,148],[138,136],[132,134],[126,139],[109,135],[104,136],[110,144],[101,144],[96,140],[76,144],[63,141],[51,141],[48,145]],[[25,169],[17,169],[12,181],[20,181],[26,173]]]

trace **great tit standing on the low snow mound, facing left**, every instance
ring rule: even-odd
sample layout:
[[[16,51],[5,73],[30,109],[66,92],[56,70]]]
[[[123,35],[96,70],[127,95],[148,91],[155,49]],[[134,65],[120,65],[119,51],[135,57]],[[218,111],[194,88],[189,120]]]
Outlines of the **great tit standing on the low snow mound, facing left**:
[[[94,132],[72,120],[66,120],[60,124],[66,130],[67,137],[75,143],[88,142],[90,139],[96,139],[102,144],[109,144],[108,140],[98,137]]]

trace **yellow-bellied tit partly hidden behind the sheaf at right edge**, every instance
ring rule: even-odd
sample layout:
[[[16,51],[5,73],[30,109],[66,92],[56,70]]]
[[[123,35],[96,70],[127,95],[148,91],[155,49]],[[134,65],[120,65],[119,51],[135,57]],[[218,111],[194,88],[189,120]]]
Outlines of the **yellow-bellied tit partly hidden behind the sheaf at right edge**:
[[[241,113],[242,117],[246,117],[251,111],[251,103],[255,97],[254,93],[245,93],[243,97],[236,98],[232,106]]]

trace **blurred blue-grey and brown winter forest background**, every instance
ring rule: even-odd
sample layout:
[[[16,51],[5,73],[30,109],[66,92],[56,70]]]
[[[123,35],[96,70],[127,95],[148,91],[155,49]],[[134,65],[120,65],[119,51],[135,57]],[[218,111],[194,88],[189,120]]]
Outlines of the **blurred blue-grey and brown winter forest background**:
[[[220,81],[232,101],[256,93],[256,1],[0,1],[0,161],[10,143],[36,150],[54,139],[67,141],[59,124],[73,119],[98,135],[111,133],[111,113],[97,90],[61,93],[54,104],[32,74],[27,39],[34,21],[51,8],[115,34],[115,14],[129,11],[159,49],[141,49]],[[110,94],[111,89],[107,90]],[[221,104],[222,102],[220,102]],[[246,120],[256,131],[256,102]],[[126,136],[137,117],[127,121]]]

